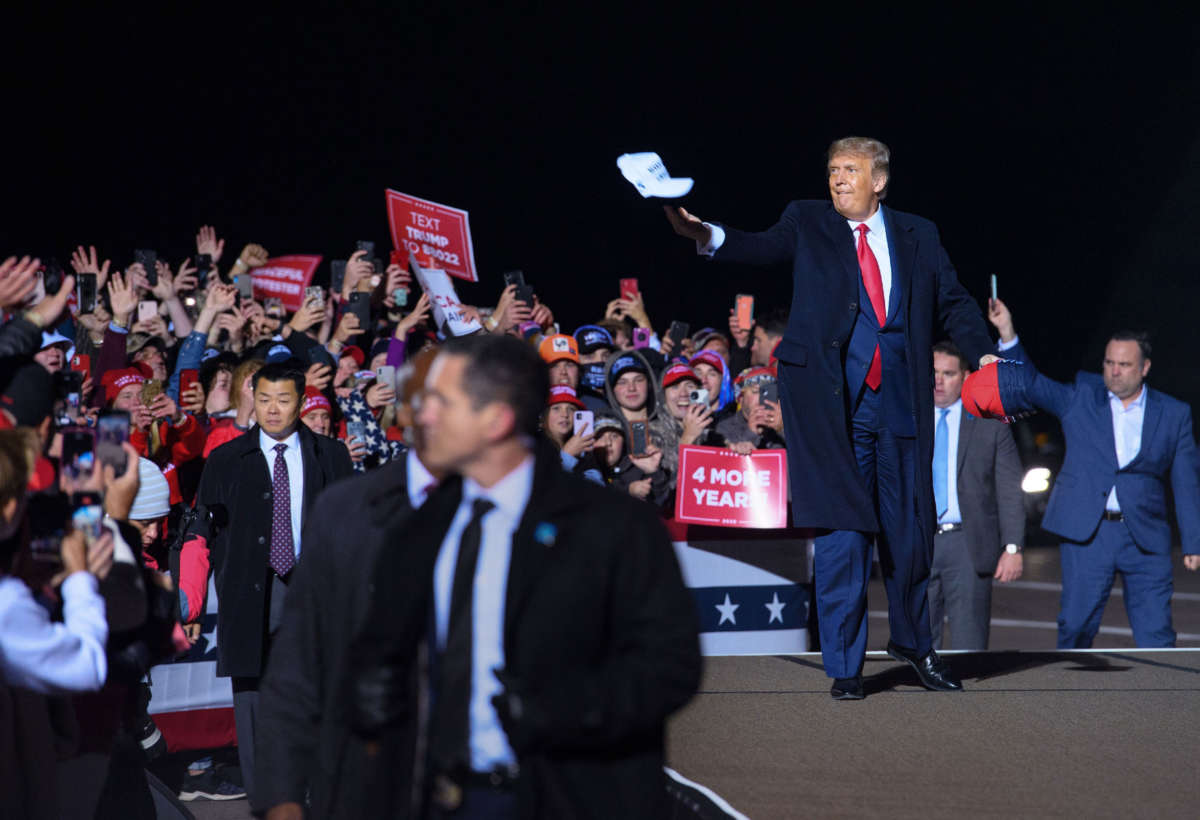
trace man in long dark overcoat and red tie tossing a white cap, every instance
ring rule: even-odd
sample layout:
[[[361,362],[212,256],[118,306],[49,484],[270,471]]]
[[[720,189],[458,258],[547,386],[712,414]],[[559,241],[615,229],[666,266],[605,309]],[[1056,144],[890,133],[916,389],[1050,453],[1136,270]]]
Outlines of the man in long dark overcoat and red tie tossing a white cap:
[[[888,651],[938,690],[962,684],[930,642],[930,465],[935,323],[972,361],[991,340],[932,222],[881,205],[889,151],[863,137],[829,146],[832,202],[798,200],[762,233],[668,207],[676,233],[722,262],[792,265],[775,349],[793,522],[821,531],[814,574],[830,694],[863,698],[866,585],[875,539],[888,592]]]

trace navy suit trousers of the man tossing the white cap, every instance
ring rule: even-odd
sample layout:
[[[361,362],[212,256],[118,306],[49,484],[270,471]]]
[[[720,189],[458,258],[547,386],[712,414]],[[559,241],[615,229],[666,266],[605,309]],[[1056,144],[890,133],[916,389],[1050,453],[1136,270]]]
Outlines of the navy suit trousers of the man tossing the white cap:
[[[925,654],[931,646],[925,591],[932,556],[924,547],[917,523],[917,439],[888,431],[880,418],[880,405],[878,393],[863,390],[852,419],[854,456],[868,492],[875,498],[882,529],[876,541],[892,640]],[[829,677],[852,677],[863,669],[872,538],[872,533],[835,529],[815,543],[812,570],[821,656]]]

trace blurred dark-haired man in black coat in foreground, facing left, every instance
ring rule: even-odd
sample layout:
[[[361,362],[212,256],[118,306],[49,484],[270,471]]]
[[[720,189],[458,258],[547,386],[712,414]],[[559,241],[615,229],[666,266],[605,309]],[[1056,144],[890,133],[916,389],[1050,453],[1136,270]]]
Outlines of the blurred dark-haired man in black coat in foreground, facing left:
[[[451,340],[426,379],[422,455],[462,478],[380,553],[350,650],[367,816],[667,815],[664,723],[700,682],[695,604],[652,508],[539,449],[547,391],[506,336]]]

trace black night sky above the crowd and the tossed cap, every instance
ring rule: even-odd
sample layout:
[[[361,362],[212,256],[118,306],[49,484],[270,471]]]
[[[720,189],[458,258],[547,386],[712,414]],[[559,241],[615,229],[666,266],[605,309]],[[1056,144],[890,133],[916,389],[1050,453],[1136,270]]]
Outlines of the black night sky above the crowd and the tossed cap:
[[[0,253],[178,263],[212,223],[234,252],[344,258],[389,241],[394,187],[470,211],[466,301],[522,268],[574,328],[638,276],[658,327],[697,328],[740,291],[786,304],[788,276],[696,261],[616,157],[656,150],[696,178],[692,211],[762,228],[826,196],[830,139],[870,134],[892,146],[888,204],[938,223],[980,300],[998,275],[1046,372],[1142,327],[1151,381],[1200,399],[1194,11],[194,8],[10,26]]]

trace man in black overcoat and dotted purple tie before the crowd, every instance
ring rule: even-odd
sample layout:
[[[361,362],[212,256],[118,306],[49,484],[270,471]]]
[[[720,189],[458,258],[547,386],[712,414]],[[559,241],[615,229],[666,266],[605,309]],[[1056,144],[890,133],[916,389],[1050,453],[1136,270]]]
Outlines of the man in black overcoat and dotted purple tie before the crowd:
[[[299,529],[317,495],[353,474],[341,442],[299,423],[302,371],[269,364],[253,384],[258,424],[209,456],[196,496],[209,515],[194,533],[211,555],[221,607],[217,675],[233,677],[238,755],[251,797],[259,677],[282,620]]]

